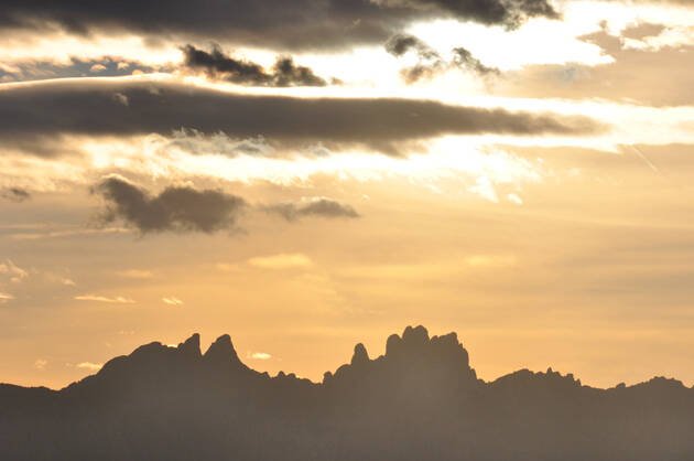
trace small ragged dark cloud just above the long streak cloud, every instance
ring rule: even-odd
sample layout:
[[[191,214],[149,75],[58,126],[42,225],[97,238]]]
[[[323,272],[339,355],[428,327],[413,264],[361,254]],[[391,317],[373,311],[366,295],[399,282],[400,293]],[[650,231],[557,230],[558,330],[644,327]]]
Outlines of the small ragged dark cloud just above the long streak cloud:
[[[268,73],[261,65],[237,60],[214,45],[210,52],[193,45],[183,47],[184,65],[203,71],[209,77],[242,85],[257,86],[325,86],[327,82],[315,75],[308,67],[294,64],[292,57],[281,56]]]

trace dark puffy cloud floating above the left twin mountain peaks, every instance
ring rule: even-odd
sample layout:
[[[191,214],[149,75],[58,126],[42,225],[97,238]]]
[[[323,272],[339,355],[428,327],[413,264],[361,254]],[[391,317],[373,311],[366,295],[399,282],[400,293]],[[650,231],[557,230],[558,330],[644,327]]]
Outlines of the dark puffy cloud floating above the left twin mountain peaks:
[[[127,180],[111,175],[93,187],[106,200],[101,223],[122,219],[142,234],[152,232],[203,232],[234,229],[246,202],[217,190],[197,191],[169,186],[152,196]]]

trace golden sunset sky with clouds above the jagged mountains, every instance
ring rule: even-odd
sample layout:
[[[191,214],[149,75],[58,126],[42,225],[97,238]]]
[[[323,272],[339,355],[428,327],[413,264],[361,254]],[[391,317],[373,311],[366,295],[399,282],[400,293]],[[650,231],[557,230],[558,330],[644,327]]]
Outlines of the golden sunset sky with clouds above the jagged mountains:
[[[480,378],[694,385],[690,0],[0,11],[0,382],[198,332],[319,382],[406,325]]]

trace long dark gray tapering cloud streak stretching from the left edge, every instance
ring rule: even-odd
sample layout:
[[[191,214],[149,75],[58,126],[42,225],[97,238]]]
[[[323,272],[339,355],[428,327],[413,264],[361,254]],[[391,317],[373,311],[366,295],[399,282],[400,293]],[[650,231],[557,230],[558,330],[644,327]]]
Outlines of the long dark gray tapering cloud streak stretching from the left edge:
[[[400,98],[259,96],[153,81],[48,82],[0,92],[0,141],[62,133],[171,136],[181,128],[282,146],[366,147],[389,154],[444,135],[592,135],[583,116],[510,112]],[[48,152],[43,152],[48,154]]]

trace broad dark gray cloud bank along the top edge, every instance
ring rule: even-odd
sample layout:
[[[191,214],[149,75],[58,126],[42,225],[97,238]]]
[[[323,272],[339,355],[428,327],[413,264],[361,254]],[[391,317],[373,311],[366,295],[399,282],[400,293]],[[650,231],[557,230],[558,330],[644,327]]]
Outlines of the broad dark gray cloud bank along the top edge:
[[[547,0],[6,0],[0,28],[72,33],[185,35],[280,49],[382,43],[413,21],[455,18],[517,28],[528,18],[556,19]]]

